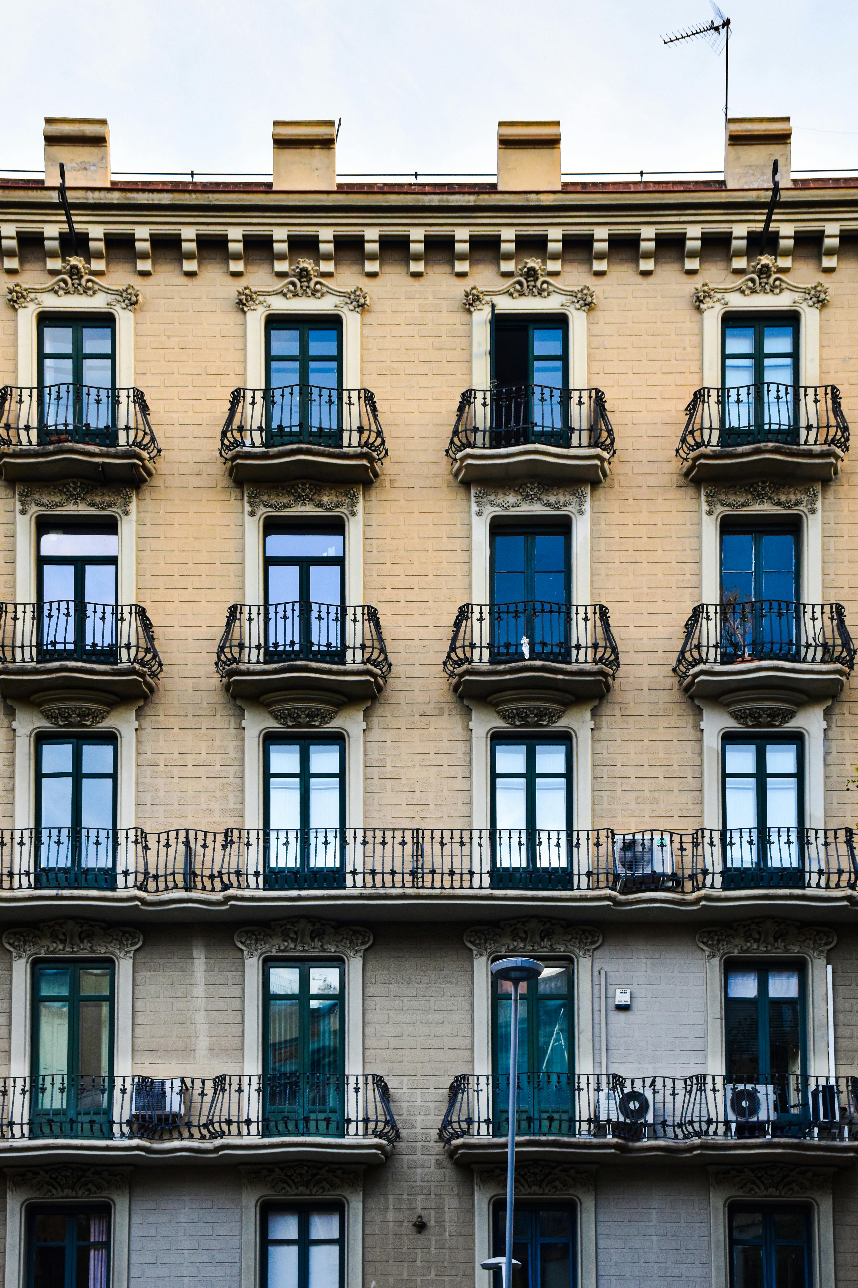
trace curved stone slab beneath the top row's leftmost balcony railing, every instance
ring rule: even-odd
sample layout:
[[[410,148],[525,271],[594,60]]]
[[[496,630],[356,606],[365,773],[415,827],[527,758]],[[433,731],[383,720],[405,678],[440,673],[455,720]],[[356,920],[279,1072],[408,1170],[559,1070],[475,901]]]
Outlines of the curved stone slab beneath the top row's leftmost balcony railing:
[[[0,477],[6,483],[59,483],[81,479],[117,487],[140,487],[154,474],[154,460],[139,447],[94,443],[0,443]]]

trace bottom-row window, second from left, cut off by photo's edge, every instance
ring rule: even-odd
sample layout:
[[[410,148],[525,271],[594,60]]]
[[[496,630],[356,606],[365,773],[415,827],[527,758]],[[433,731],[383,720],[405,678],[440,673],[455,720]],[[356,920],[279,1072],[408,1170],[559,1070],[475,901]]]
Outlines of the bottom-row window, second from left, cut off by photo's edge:
[[[343,1226],[341,1203],[264,1208],[261,1288],[343,1288]]]

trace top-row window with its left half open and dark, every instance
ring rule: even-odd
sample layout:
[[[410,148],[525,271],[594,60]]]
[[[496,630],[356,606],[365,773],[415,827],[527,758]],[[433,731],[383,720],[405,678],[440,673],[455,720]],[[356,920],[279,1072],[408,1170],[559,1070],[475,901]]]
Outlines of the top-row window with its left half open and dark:
[[[567,366],[565,321],[493,314],[493,447],[569,446]]]

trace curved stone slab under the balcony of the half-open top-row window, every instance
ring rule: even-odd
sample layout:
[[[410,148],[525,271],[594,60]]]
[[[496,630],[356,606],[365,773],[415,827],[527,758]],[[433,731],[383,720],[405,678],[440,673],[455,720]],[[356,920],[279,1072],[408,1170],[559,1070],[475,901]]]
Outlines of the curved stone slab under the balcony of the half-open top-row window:
[[[551,447],[522,443],[518,447],[466,447],[453,457],[457,483],[603,483],[610,474],[611,453],[602,447]]]

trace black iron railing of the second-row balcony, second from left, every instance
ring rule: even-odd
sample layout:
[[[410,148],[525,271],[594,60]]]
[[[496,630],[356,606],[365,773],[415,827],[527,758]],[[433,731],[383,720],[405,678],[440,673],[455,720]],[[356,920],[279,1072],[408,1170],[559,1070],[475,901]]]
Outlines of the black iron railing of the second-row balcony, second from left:
[[[282,662],[374,666],[390,675],[390,658],[372,604],[230,604],[215,666],[275,666]]]

